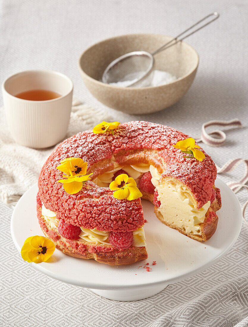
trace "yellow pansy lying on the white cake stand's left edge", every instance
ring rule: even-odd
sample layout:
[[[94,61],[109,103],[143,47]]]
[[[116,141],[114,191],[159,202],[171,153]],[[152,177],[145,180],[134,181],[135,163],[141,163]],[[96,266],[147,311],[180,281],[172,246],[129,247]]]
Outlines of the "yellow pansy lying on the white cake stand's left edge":
[[[52,241],[44,236],[30,236],[26,239],[21,250],[23,260],[39,264],[47,261],[55,250]]]

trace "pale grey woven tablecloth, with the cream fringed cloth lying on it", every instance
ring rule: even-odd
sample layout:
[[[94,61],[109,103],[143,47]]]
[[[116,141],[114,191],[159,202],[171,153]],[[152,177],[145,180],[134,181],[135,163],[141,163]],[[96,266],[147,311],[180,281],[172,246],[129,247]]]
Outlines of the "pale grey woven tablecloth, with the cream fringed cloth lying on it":
[[[176,35],[211,11],[219,11],[221,17],[187,40],[200,57],[195,81],[183,99],[167,110],[127,115],[100,104],[83,85],[77,60],[91,44],[126,33]],[[161,123],[197,138],[204,122],[239,118],[244,128],[224,128],[227,139],[223,146],[201,144],[222,166],[229,159],[247,159],[247,16],[246,0],[0,0],[1,81],[17,71],[34,68],[68,75],[74,83],[74,94],[88,107],[73,111],[67,136],[91,128],[97,119],[112,117],[120,122]],[[75,118],[76,113],[82,119],[79,115]],[[51,151],[14,144],[0,110],[1,199],[13,202],[35,183]],[[237,181],[242,171],[241,164],[220,178]],[[243,204],[247,192],[241,190],[237,196]],[[185,281],[168,285],[149,299],[116,302],[53,280],[24,262],[11,239],[11,214],[12,208],[0,201],[1,326],[248,326],[245,221],[236,244],[220,262]]]

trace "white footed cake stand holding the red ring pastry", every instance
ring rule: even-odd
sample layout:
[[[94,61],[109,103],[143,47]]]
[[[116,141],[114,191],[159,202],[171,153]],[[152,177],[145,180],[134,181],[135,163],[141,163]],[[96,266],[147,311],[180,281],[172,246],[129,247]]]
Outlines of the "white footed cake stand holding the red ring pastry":
[[[146,233],[147,260],[130,266],[108,266],[94,260],[83,260],[55,250],[50,262],[34,264],[34,268],[64,283],[87,287],[96,294],[116,301],[148,298],[162,291],[168,284],[184,280],[210,267],[233,246],[239,236],[242,214],[239,201],[231,189],[216,180],[221,189],[222,208],[219,223],[212,238],[204,243],[192,240],[162,224],[153,212],[153,205],[142,201],[148,220]],[[21,251],[25,239],[43,235],[36,218],[38,188],[31,187],[17,203],[11,218],[11,235]],[[152,262],[156,261],[156,265]],[[151,271],[140,266],[149,263]]]

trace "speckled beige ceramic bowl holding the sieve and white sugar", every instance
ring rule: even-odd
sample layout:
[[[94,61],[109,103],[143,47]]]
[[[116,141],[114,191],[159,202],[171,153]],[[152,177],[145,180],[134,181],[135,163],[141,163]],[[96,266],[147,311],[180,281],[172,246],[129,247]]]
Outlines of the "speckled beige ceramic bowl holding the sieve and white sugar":
[[[170,41],[170,36],[130,34],[96,43],[79,59],[82,79],[91,94],[104,105],[130,114],[151,113],[165,109],[186,94],[198,67],[198,54],[185,42],[154,56],[155,69],[168,71],[178,79],[161,86],[124,88],[100,82],[104,69],[119,56],[131,51],[152,52]]]

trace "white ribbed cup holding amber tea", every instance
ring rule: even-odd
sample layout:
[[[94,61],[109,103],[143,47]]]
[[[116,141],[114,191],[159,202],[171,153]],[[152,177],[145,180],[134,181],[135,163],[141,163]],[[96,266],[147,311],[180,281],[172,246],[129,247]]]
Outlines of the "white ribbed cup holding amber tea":
[[[62,96],[46,101],[15,97],[35,89],[57,92]],[[7,78],[2,84],[2,92],[9,130],[17,143],[45,148],[65,137],[73,93],[69,77],[50,70],[25,71]]]

